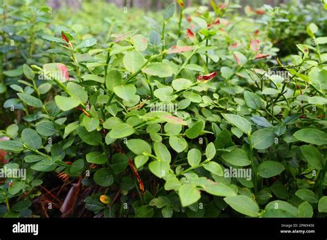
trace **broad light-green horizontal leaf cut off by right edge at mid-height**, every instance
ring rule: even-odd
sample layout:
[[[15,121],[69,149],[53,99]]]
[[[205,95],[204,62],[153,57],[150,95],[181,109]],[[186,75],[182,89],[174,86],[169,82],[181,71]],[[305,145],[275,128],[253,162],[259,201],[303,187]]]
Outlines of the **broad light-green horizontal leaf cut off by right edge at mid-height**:
[[[315,128],[304,128],[298,130],[293,134],[293,136],[297,140],[304,141],[305,143],[311,143],[318,146],[327,144],[327,133]]]

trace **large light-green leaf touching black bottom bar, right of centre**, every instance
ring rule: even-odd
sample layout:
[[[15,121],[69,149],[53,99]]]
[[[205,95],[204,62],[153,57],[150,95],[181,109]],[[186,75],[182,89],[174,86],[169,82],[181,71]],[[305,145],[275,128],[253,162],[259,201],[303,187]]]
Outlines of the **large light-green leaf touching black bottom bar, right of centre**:
[[[241,214],[258,217],[259,216],[259,207],[257,203],[246,197],[244,195],[237,195],[233,197],[225,197],[224,201],[235,211],[240,212]]]

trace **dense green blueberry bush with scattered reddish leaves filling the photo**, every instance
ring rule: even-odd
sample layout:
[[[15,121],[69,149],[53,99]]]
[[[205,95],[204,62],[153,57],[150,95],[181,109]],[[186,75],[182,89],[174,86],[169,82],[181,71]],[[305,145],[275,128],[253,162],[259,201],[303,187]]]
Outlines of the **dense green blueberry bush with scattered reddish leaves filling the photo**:
[[[327,1],[94,4],[0,6],[0,216],[327,216]]]

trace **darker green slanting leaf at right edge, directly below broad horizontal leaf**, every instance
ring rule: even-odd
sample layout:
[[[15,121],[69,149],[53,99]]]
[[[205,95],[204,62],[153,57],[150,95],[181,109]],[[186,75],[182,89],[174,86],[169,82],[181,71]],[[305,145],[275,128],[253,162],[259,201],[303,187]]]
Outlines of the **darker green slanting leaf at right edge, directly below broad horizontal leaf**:
[[[325,165],[324,155],[319,152],[317,148],[310,145],[303,145],[299,147],[306,161],[317,170],[321,170]]]

